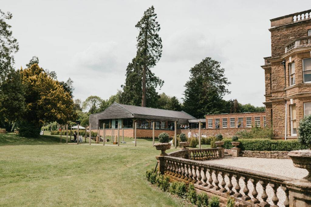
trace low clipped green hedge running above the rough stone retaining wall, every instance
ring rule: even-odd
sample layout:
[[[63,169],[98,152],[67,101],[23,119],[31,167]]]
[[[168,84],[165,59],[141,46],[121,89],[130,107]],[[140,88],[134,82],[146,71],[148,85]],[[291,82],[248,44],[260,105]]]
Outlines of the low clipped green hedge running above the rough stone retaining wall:
[[[224,148],[231,149],[231,139],[224,139]],[[239,139],[239,148],[250,151],[292,151],[308,149],[301,145],[298,140],[271,140],[271,139]]]

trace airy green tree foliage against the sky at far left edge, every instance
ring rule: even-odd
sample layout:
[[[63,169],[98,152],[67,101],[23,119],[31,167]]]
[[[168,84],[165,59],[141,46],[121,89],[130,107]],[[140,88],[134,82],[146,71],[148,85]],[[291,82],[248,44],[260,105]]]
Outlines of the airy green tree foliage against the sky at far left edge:
[[[13,72],[14,56],[19,49],[17,40],[12,36],[11,25],[6,23],[12,19],[10,12],[0,10],[0,83]]]

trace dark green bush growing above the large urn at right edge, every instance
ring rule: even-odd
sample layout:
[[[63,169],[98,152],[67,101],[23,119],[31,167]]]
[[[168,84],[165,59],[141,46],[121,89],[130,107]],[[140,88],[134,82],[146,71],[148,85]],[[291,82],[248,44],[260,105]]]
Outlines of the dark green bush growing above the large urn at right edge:
[[[299,122],[298,132],[298,142],[303,145],[308,145],[311,150],[311,115],[304,116]]]

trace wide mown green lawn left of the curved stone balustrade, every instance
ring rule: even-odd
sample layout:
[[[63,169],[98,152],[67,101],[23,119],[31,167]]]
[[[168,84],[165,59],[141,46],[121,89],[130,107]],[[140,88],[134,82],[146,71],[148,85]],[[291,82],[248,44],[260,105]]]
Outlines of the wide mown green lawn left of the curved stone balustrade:
[[[1,206],[183,206],[145,178],[160,154],[152,139],[118,147],[59,138],[0,135]]]

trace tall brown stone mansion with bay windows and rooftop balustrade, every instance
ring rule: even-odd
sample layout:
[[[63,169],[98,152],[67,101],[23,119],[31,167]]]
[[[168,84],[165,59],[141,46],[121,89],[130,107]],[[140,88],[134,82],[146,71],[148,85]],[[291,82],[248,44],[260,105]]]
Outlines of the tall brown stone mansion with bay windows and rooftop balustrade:
[[[276,139],[297,138],[311,114],[311,10],[271,19],[271,56],[265,57],[266,122]]]

